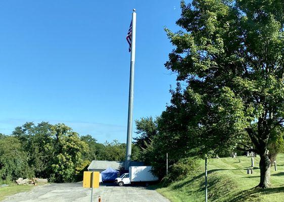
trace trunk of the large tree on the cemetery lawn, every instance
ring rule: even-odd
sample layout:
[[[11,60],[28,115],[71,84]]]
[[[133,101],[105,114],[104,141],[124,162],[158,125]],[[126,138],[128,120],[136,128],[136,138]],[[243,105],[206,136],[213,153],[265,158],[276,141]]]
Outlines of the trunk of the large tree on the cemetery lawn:
[[[270,159],[269,156],[265,154],[260,155],[260,162],[259,162],[259,168],[260,168],[260,183],[258,187],[261,188],[268,188],[270,187]]]

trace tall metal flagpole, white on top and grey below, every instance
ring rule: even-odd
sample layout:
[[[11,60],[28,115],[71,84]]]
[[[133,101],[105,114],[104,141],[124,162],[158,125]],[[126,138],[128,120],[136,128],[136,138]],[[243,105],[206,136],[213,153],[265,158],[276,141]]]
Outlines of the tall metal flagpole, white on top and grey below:
[[[134,96],[135,40],[136,40],[136,13],[135,13],[135,9],[133,9],[132,32],[131,32],[131,59],[130,59],[130,80],[129,80],[127,144],[126,144],[125,170],[129,169],[130,161],[131,161],[132,111],[133,111],[133,96]]]

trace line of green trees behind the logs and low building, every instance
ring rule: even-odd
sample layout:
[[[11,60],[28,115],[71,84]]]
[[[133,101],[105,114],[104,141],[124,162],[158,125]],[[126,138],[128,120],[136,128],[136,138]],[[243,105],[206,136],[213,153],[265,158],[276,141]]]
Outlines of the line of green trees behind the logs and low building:
[[[48,122],[27,122],[11,135],[0,134],[0,145],[0,180],[8,181],[19,177],[81,181],[92,160],[124,161],[126,149],[126,144],[117,140],[98,143],[65,124]],[[138,147],[133,145],[132,152],[133,160],[138,159]]]

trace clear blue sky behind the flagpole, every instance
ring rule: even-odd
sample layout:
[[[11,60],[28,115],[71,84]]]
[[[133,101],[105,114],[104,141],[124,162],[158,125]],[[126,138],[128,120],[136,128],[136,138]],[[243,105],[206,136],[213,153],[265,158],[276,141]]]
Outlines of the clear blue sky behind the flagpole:
[[[179,29],[179,0],[9,0],[0,2],[0,132],[49,121],[99,142],[125,142],[133,8],[133,116],[160,115],[175,85],[164,67],[173,47],[163,28]]]

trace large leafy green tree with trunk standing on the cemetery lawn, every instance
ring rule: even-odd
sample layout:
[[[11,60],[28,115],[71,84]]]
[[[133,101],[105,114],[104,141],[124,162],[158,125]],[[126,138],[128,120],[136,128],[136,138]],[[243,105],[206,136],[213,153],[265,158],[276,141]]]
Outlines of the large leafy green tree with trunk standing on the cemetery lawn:
[[[175,48],[165,66],[185,84],[168,109],[193,116],[205,150],[235,146],[245,130],[254,147],[244,150],[260,155],[262,188],[270,186],[269,136],[284,120],[283,9],[280,0],[182,1],[182,30],[166,29]]]

